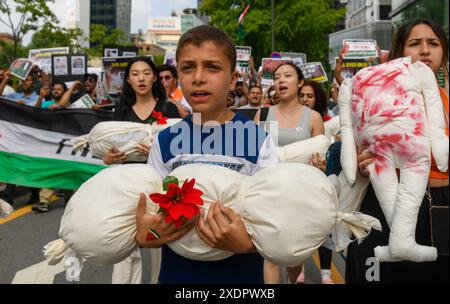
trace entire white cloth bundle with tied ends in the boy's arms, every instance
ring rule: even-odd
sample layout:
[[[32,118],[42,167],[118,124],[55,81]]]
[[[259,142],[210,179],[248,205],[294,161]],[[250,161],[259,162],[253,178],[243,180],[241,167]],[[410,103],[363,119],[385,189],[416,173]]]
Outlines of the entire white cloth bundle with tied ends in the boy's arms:
[[[380,228],[372,217],[338,212],[333,185],[309,165],[281,163],[245,176],[220,166],[195,164],[169,175],[180,184],[195,178],[195,188],[204,193],[206,211],[216,201],[233,209],[257,250],[277,265],[301,264],[330,234],[336,249],[342,250],[351,232],[363,238],[371,228]],[[141,164],[107,168],[89,179],[66,207],[59,232],[62,240],[45,247],[49,264],[58,263],[69,248],[93,264],[114,264],[128,257],[136,248],[139,193],[161,193],[161,184],[154,169]],[[155,205],[148,207],[155,212]],[[186,258],[201,261],[233,255],[208,246],[195,229],[168,245]]]

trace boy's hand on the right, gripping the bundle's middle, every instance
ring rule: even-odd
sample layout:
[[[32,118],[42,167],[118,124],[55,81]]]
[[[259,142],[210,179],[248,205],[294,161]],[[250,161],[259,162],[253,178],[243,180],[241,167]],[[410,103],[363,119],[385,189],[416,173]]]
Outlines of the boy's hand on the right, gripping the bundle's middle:
[[[206,220],[203,211],[200,211],[195,228],[199,237],[213,248],[234,253],[256,250],[241,218],[233,210],[217,202],[209,208]]]

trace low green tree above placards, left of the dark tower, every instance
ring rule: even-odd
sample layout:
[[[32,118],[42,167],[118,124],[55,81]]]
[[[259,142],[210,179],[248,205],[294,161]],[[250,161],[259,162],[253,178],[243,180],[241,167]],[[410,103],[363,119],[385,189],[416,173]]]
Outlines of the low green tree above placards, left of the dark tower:
[[[29,44],[30,49],[69,47],[70,53],[82,53],[85,49],[81,46],[88,38],[82,29],[67,29],[52,27],[45,24],[33,34]]]

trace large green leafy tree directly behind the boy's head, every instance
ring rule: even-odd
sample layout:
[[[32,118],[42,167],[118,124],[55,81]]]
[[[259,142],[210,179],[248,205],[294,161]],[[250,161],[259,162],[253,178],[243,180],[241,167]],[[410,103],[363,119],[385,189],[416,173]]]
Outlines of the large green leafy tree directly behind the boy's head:
[[[237,44],[251,46],[258,64],[271,53],[271,0],[250,1],[242,39],[238,39],[238,18],[248,3],[249,0],[205,0],[200,10]],[[332,0],[275,1],[276,50],[305,53],[308,61],[321,61],[328,67],[327,34],[345,14],[345,9],[332,9],[331,3]]]

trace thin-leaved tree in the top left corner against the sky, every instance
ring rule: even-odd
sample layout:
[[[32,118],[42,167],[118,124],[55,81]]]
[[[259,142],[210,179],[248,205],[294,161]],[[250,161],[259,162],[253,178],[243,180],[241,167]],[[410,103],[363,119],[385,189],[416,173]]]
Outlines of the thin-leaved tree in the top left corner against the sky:
[[[48,3],[54,0],[0,0],[0,22],[5,24],[12,35],[12,55],[18,57],[23,36],[30,31],[38,29],[39,24],[54,26],[58,20],[48,7]],[[18,21],[14,21],[12,14],[18,15]]]

